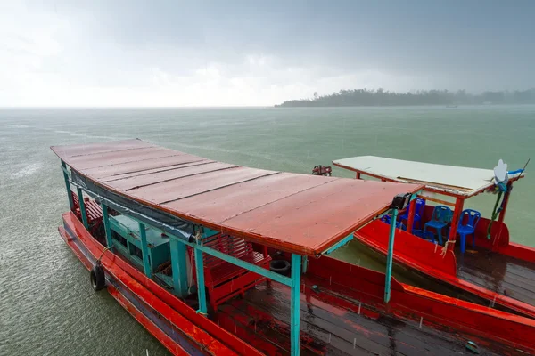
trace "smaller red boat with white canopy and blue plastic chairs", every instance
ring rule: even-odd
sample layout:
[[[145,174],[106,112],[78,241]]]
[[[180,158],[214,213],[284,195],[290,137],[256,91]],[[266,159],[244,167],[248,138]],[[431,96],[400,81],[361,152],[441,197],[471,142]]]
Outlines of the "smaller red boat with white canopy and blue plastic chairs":
[[[338,159],[333,165],[355,172],[358,180],[371,177],[383,182],[424,184],[419,195],[422,211],[416,212],[415,200],[403,220],[397,220],[395,263],[468,292],[475,303],[535,317],[535,248],[510,241],[505,223],[513,185],[524,177],[523,169],[505,174],[501,160],[493,170],[374,156]],[[500,170],[502,182],[496,176]],[[457,228],[468,223],[468,215],[463,214],[465,200],[479,194],[497,196],[493,216],[480,214],[478,221],[474,220],[474,233],[463,239]],[[438,231],[427,230],[436,206],[450,210],[448,222]],[[479,214],[469,210],[467,214]],[[357,231],[355,238],[386,255],[389,223],[376,220]],[[444,239],[439,231],[446,235]]]

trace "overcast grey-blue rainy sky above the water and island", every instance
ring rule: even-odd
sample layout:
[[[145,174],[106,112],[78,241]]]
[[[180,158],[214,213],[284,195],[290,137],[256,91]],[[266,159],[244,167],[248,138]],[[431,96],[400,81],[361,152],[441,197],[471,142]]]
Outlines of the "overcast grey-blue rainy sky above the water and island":
[[[535,87],[535,1],[0,0],[0,106]]]

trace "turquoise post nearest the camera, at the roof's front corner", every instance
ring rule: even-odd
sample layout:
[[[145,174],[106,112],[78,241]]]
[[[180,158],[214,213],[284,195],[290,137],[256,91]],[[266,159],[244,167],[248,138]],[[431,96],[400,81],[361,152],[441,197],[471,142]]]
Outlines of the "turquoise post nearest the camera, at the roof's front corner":
[[[301,257],[292,254],[292,297],[290,302],[290,352],[292,356],[298,356],[300,353],[300,271]]]

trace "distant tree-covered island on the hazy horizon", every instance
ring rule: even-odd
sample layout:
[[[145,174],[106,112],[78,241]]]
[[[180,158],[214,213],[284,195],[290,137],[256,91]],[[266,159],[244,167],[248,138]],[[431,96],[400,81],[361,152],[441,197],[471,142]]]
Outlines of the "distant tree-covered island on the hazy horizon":
[[[465,90],[457,92],[423,90],[395,93],[383,89],[350,89],[323,96],[314,93],[313,98],[284,101],[275,107],[444,105],[453,108],[457,105],[484,104],[535,104],[535,89],[514,92],[483,92],[480,94],[466,93]]]

